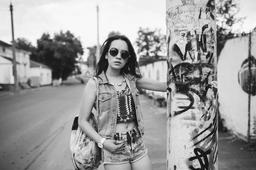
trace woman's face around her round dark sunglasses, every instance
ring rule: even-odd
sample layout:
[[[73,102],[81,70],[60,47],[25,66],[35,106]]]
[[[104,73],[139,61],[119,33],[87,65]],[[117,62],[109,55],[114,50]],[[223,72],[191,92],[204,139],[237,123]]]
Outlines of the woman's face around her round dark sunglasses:
[[[128,51],[128,45],[123,40],[114,40],[111,42],[111,45],[108,50],[110,50],[111,48],[116,48],[119,52],[116,56],[111,56],[111,54],[108,51],[108,53],[105,56],[105,58],[108,59],[108,66],[120,70],[128,62],[128,59],[122,59],[121,57],[122,51]]]

